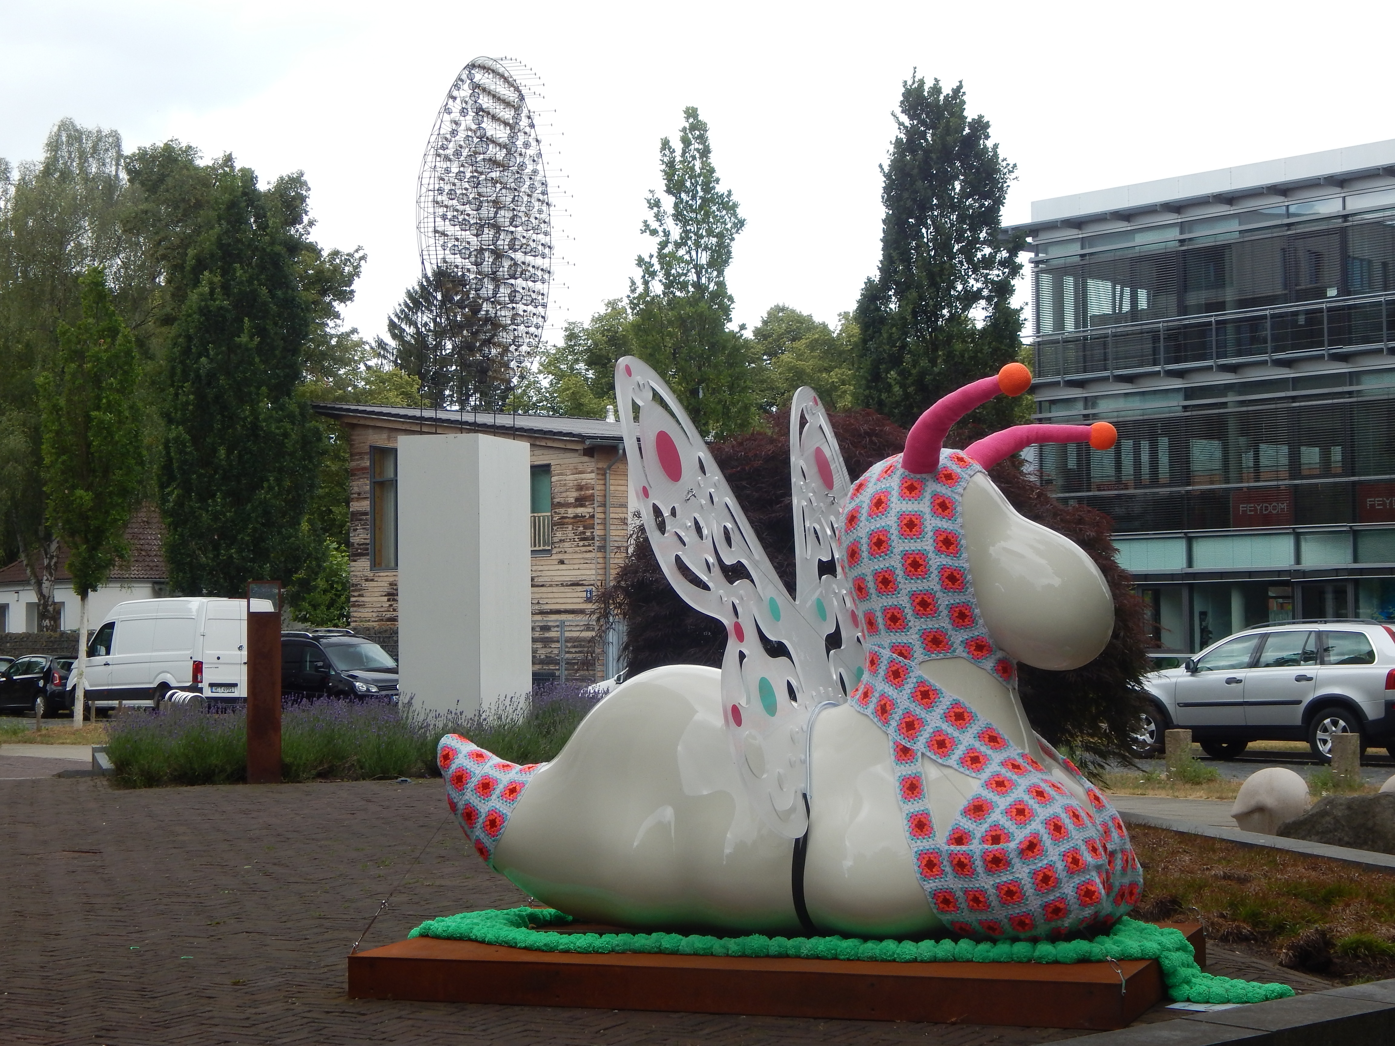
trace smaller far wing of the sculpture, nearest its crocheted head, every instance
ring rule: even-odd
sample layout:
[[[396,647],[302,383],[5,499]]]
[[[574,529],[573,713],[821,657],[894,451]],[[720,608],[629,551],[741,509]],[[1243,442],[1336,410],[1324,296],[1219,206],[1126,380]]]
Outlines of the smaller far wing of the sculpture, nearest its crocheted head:
[[[862,637],[843,570],[840,520],[847,505],[847,466],[817,393],[804,386],[790,403],[790,501],[794,512],[797,601],[820,633],[833,692],[844,700],[862,676]]]

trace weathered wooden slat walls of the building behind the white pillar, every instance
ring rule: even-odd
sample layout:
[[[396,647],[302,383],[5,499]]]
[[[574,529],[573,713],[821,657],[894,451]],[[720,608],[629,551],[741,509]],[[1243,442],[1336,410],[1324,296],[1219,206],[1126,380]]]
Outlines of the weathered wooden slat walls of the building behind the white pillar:
[[[418,432],[378,423],[343,421],[349,430],[349,614],[354,628],[396,629],[398,573],[368,569],[368,448],[396,446],[399,432]],[[451,432],[460,430],[446,430]],[[467,431],[467,430],[466,430]],[[552,467],[552,552],[533,556],[533,671],[557,675],[558,622],[566,622],[568,679],[597,679],[601,664],[590,657],[586,590],[604,584],[604,470],[615,455],[608,446],[580,441],[530,439],[533,464]],[[610,474],[611,577],[628,548],[628,478],[625,462]]]

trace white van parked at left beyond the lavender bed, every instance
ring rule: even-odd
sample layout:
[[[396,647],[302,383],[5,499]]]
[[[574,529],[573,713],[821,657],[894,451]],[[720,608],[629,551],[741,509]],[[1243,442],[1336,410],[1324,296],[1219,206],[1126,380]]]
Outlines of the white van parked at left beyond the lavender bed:
[[[252,602],[273,609],[268,600]],[[93,708],[151,707],[176,689],[247,697],[247,600],[130,600],[92,633],[86,700]]]

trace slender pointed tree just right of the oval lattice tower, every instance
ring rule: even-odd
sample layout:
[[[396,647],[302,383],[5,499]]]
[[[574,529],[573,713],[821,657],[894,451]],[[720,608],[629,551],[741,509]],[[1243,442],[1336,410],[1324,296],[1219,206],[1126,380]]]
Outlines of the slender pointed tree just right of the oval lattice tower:
[[[748,431],[756,418],[745,338],[730,329],[727,266],[745,227],[711,162],[707,124],[684,109],[675,149],[658,145],[665,204],[649,194],[642,232],[654,252],[636,258],[629,312],[635,354],[658,371],[704,435]]]

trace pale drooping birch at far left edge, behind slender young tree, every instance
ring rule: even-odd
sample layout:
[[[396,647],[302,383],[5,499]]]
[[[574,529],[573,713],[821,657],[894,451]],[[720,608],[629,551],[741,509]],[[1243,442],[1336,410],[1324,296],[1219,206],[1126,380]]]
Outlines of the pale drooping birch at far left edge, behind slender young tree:
[[[0,547],[24,561],[45,632],[60,628],[59,538],[45,503],[36,378],[59,325],[78,321],[81,275],[123,271],[123,187],[121,137],[73,120],[53,127],[38,163],[15,172],[0,160]]]

